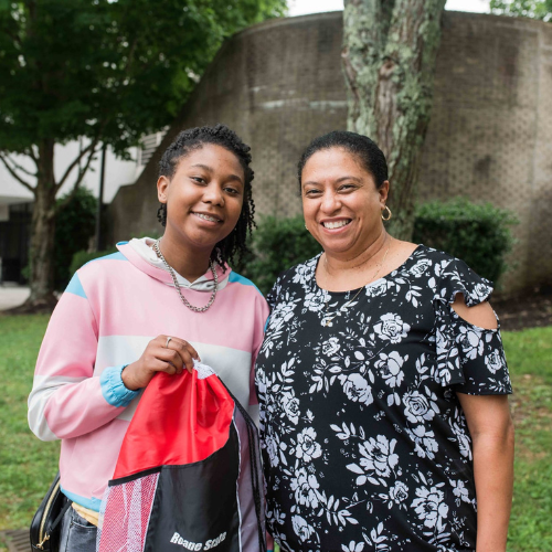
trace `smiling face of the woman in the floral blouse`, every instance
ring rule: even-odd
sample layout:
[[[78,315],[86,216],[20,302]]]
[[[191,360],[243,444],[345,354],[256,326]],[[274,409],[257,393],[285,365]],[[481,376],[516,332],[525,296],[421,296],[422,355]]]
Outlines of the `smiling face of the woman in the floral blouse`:
[[[327,253],[353,258],[378,238],[389,182],[376,189],[357,156],[343,148],[317,151],[301,182],[305,223]]]

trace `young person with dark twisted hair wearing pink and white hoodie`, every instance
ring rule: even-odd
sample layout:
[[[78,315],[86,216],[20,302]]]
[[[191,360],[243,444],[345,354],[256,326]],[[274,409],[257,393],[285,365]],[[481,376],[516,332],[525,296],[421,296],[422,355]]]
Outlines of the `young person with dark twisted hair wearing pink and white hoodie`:
[[[62,439],[61,487],[73,502],[62,551],[95,550],[104,490],[157,372],[178,378],[201,358],[256,408],[252,367],[268,308],[226,264],[253,226],[250,162],[250,148],[223,125],[181,132],[160,162],[162,238],[119,243],[85,265],[52,315],[29,424],[43,440]]]

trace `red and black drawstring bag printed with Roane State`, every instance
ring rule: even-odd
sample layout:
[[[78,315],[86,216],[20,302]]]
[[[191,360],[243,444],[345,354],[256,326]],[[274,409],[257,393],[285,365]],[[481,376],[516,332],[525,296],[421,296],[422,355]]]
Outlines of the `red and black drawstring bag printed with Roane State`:
[[[99,552],[266,552],[258,435],[216,374],[157,374],[99,512]]]

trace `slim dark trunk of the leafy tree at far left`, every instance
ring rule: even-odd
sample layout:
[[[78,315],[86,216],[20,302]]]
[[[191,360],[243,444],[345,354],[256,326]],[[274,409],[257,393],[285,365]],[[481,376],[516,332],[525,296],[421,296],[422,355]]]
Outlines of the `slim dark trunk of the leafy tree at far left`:
[[[36,188],[31,222],[31,295],[23,310],[52,310],[54,296],[55,178],[54,141],[39,146]]]

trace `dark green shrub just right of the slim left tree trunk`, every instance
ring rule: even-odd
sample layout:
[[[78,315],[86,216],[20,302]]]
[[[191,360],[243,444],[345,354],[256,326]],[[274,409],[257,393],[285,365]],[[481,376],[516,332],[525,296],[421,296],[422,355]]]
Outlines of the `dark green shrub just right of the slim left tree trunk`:
[[[73,255],[88,247],[96,227],[97,200],[86,188],[78,188],[74,195],[57,200],[55,213],[55,289],[63,290],[73,273]]]

